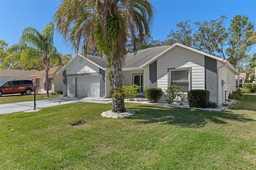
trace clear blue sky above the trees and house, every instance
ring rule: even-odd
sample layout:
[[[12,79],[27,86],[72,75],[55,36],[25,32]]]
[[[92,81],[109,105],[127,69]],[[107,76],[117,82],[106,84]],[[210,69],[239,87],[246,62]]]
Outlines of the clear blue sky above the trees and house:
[[[152,36],[164,40],[176,24],[185,20],[210,21],[220,15],[228,17],[226,26],[236,14],[249,16],[256,23],[256,0],[150,0],[156,8]],[[58,0],[0,0],[0,40],[9,46],[18,43],[26,27],[38,31],[50,22],[56,12]],[[54,36],[54,45],[62,54],[72,53],[59,35]],[[253,49],[255,51],[255,47]]]

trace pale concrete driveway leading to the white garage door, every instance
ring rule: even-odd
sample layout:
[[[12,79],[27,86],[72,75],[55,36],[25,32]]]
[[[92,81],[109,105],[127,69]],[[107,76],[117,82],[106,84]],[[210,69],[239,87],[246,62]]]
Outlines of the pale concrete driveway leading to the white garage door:
[[[77,103],[77,102],[90,102],[90,103],[112,103],[109,101],[95,100],[95,98],[91,97],[58,97],[58,98],[48,98],[44,100],[36,101],[36,109],[44,108],[44,107],[52,107],[58,105],[65,105],[69,103]],[[15,113],[27,110],[34,109],[34,101],[24,101],[18,103],[8,103],[0,105],[0,115],[6,113]]]

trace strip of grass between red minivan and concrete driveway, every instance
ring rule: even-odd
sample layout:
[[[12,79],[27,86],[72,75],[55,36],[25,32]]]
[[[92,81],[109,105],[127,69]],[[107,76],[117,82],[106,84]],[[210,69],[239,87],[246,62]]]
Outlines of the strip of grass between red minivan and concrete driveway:
[[[51,95],[50,97],[60,97],[60,95]],[[45,99],[46,94],[36,94],[36,100]],[[33,101],[34,100],[34,94],[31,95],[2,95],[0,97],[0,104],[6,104],[6,103],[16,103],[16,102],[22,102],[22,101]]]

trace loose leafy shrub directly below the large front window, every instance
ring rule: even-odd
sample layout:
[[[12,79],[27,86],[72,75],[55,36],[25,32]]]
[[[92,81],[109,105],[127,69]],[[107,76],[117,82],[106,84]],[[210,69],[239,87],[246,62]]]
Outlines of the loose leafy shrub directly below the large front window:
[[[165,91],[166,95],[166,101],[168,104],[172,103],[178,103],[179,105],[183,105],[183,93],[181,93],[181,88],[180,86],[177,85],[169,85]]]

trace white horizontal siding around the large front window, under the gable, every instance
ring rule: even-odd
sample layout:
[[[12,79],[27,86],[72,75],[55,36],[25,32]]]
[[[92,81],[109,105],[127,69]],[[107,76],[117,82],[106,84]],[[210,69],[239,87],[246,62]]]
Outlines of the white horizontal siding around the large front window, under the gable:
[[[191,69],[190,89],[204,89],[204,55],[190,51],[183,47],[176,47],[157,60],[157,85],[166,89],[168,83],[168,69]]]

